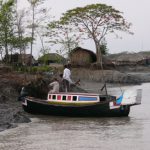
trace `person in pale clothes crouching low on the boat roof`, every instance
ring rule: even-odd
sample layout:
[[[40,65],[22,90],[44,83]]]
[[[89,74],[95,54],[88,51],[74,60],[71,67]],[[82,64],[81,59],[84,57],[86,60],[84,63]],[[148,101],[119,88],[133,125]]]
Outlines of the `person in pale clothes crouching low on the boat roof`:
[[[52,89],[48,93],[59,93],[59,81],[57,78],[54,78],[54,81],[49,84],[49,87]]]

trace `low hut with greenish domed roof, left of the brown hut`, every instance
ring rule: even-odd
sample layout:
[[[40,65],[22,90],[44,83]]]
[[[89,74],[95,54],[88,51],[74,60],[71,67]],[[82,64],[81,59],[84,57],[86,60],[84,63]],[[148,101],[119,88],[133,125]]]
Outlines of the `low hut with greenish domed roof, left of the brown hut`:
[[[49,54],[45,54],[41,56],[38,59],[38,62],[47,64],[47,65],[51,63],[64,64],[66,62],[66,59],[57,53],[49,53]]]

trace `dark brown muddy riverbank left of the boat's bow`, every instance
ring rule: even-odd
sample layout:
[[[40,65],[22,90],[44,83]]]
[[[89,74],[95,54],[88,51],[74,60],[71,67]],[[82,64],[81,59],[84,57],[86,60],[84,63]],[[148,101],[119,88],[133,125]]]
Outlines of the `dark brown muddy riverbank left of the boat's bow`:
[[[17,101],[22,80],[19,75],[0,72],[0,131],[30,122]]]

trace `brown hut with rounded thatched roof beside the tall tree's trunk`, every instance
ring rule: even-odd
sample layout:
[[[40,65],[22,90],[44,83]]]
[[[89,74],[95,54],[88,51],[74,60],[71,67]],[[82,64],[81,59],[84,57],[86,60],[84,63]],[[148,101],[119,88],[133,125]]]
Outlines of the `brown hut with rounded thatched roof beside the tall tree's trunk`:
[[[90,50],[77,47],[70,53],[71,65],[74,67],[88,67],[96,62],[96,54]]]

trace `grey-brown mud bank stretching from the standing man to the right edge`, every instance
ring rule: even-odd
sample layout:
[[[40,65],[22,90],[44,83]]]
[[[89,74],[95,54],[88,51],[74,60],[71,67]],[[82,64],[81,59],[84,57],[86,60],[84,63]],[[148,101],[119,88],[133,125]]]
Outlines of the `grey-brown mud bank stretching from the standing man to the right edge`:
[[[81,79],[86,81],[103,82],[116,84],[141,84],[150,82],[150,71],[137,70],[90,70],[90,69],[73,69],[72,76],[75,80]],[[104,77],[103,77],[104,76]]]

